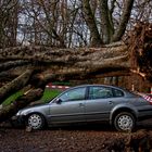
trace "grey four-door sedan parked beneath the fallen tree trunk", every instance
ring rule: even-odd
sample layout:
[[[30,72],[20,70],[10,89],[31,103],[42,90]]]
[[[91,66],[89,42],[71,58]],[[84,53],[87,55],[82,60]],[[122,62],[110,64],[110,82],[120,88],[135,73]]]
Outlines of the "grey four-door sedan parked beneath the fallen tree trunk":
[[[84,85],[69,88],[49,103],[23,109],[16,117],[33,129],[106,122],[128,131],[138,121],[152,117],[152,98],[114,86]]]

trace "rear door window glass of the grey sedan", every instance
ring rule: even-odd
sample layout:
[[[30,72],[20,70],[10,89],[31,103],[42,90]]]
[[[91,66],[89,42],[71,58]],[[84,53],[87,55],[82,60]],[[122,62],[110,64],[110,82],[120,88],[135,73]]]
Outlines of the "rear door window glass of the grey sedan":
[[[112,98],[113,92],[111,88],[106,87],[90,87],[89,99]]]

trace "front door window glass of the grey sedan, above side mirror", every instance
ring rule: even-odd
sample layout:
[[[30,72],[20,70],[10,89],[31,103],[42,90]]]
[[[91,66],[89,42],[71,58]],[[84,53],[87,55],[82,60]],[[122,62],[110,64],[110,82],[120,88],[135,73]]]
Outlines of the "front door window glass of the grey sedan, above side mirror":
[[[76,88],[63,93],[60,99],[64,101],[77,101],[77,100],[85,100],[86,96],[86,88]]]

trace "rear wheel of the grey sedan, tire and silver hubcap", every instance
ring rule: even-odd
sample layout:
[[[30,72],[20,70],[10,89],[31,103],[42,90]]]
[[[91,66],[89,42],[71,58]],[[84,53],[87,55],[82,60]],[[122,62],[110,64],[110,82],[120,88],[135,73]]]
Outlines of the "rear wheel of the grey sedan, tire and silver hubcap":
[[[114,118],[114,127],[118,131],[131,131],[135,128],[135,116],[128,112],[122,112]]]

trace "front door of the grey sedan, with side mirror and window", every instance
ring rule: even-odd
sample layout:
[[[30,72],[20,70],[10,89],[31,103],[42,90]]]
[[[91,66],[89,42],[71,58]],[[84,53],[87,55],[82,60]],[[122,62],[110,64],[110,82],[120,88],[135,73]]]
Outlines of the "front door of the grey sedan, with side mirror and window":
[[[59,96],[50,105],[50,123],[84,122],[86,87],[71,89]]]

